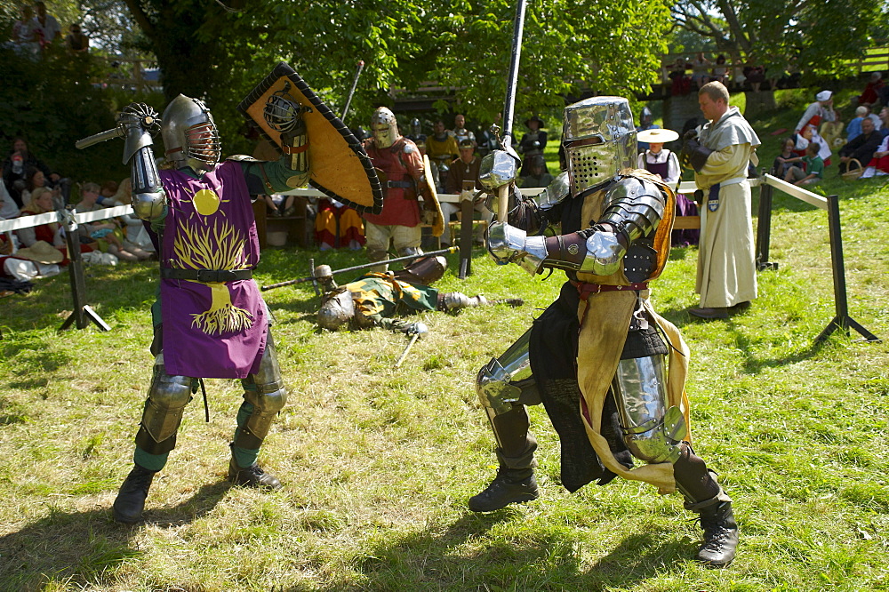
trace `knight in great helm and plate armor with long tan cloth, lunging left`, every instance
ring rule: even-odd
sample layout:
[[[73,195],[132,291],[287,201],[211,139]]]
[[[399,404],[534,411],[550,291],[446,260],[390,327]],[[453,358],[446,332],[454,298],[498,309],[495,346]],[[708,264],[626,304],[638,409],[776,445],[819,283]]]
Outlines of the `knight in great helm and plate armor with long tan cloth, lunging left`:
[[[469,509],[539,496],[525,405],[542,403],[561,440],[568,491],[615,476],[678,490],[701,516],[697,558],[725,567],[738,542],[732,501],[692,449],[688,348],[648,299],[668,260],[675,195],[656,175],[633,169],[636,129],[626,99],[565,108],[562,148],[566,171],[490,228],[495,260],[531,274],[564,269],[568,281],[532,328],[478,373],[500,468]]]

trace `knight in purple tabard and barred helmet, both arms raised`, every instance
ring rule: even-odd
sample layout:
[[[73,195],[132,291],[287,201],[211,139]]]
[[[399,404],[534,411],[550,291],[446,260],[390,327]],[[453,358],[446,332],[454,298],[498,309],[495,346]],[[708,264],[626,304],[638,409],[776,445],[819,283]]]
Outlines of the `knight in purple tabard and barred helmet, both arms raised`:
[[[299,110],[292,116],[299,118]],[[229,480],[281,487],[256,462],[287,391],[268,310],[252,280],[260,249],[250,196],[299,187],[309,172],[307,152],[269,163],[220,164],[210,112],[203,101],[181,94],[161,124],[174,168],[158,172],[150,134],[155,118],[150,108],[132,104],[119,119],[126,132],[124,163],[132,165],[133,211],[150,224],[161,267],[160,300],[152,307],[154,375],[136,434],[135,466],[114,502],[115,519],[128,524],[140,520],[151,481],[176,445],[182,412],[201,378],[236,378],[244,385]],[[304,124],[295,127],[305,134]]]

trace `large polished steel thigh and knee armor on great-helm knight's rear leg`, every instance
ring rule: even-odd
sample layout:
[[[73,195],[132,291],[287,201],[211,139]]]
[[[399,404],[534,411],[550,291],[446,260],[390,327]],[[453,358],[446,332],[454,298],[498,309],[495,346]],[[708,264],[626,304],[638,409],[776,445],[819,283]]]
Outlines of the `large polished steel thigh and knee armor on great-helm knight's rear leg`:
[[[621,360],[612,392],[629,452],[645,462],[676,462],[687,430],[682,411],[667,409],[666,356]]]

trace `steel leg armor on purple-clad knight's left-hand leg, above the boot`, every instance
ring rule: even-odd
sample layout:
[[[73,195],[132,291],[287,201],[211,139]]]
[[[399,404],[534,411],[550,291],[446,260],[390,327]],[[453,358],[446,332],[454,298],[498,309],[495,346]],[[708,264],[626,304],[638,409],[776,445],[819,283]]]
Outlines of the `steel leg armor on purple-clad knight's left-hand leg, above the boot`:
[[[164,372],[164,364],[156,364],[136,434],[136,445],[142,450],[164,454],[176,446],[182,412],[191,401],[191,382],[188,376],[171,376]]]

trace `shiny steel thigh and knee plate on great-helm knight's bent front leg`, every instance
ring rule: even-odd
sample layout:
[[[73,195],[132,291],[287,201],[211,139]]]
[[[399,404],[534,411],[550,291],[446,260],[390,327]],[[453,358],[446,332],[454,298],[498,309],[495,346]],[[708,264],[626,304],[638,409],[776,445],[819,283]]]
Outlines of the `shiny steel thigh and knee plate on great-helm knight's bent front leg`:
[[[494,415],[510,412],[514,406],[520,404],[541,404],[541,395],[537,390],[528,356],[530,340],[531,329],[500,357],[493,358],[478,372],[478,399]]]

